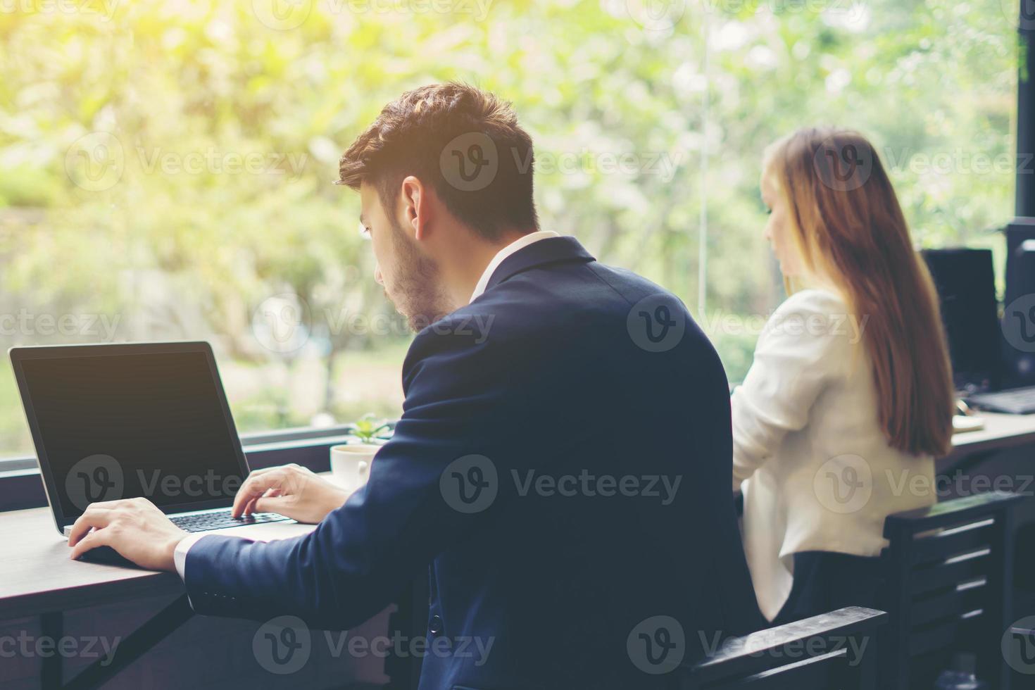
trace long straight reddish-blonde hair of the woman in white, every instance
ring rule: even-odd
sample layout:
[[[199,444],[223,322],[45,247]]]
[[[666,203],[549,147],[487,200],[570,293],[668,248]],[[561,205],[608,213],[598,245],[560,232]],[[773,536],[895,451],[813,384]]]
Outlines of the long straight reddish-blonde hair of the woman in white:
[[[788,202],[806,273],[832,280],[854,316],[868,318],[863,341],[889,445],[948,453],[954,399],[937,293],[874,147],[855,131],[804,128],[769,147],[764,169]]]

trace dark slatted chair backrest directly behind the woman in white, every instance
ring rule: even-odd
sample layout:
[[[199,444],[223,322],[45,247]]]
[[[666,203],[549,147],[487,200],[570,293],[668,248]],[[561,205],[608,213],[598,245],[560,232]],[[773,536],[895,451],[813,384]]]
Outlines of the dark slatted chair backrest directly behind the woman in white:
[[[1010,623],[1013,508],[1019,500],[994,491],[885,519],[881,605],[890,621],[881,676],[888,690],[931,687],[953,651],[975,653],[982,680],[1007,690],[1000,639]]]

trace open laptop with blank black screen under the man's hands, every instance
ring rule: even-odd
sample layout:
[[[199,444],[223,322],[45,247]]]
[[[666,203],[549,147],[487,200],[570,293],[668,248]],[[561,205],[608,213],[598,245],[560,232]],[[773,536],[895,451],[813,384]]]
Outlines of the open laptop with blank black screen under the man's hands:
[[[275,513],[233,518],[248,475],[207,342],[11,348],[58,532],[97,501],[144,497],[187,532],[257,540],[313,529]]]

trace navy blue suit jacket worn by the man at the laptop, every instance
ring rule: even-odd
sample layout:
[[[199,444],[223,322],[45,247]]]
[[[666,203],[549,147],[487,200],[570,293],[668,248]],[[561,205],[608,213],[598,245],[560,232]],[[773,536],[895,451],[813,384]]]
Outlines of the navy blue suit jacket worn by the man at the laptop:
[[[312,534],[190,548],[197,612],[344,630],[426,573],[421,690],[659,687],[659,659],[759,622],[726,374],[671,294],[540,240],[416,336],[403,385],[368,483]]]

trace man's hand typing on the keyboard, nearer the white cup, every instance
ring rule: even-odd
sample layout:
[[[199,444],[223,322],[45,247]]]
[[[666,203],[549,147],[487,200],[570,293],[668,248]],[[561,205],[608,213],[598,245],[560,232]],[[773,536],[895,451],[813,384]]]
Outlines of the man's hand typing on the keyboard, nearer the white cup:
[[[256,470],[234,498],[234,517],[279,513],[299,522],[316,523],[341,508],[349,491],[297,464]]]

